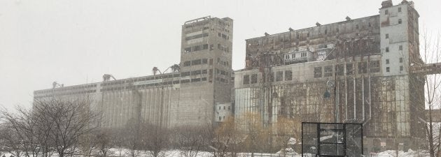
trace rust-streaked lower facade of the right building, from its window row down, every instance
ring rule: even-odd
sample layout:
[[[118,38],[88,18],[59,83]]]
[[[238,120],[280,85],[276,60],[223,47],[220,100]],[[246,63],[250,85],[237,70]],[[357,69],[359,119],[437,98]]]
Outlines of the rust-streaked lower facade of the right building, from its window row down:
[[[339,65],[358,65],[365,61],[367,65],[372,65],[371,63],[381,60],[381,55],[374,55],[369,59],[356,57],[355,61],[344,60],[236,71],[237,122],[241,123],[239,119],[246,118],[247,112],[258,113],[265,126],[275,124],[280,116],[310,122],[336,122],[335,115],[338,113],[339,122],[365,124],[363,133],[367,137],[366,142],[395,139],[390,143],[394,144],[403,139],[423,137],[423,126],[418,123],[421,102],[411,103],[412,89],[409,87],[416,83],[409,81],[409,75],[384,76],[381,65],[370,66],[367,68],[369,70],[363,70],[363,66],[343,66],[344,73],[339,73],[336,68]],[[314,73],[315,68],[328,66],[331,67],[329,75],[325,74],[325,70],[321,71],[321,77]],[[263,77],[265,73],[274,73],[273,81],[264,82],[263,80],[267,80]],[[289,73],[292,73],[292,78],[289,78]],[[253,75],[257,76],[255,82],[251,81]],[[327,90],[329,98],[324,96]],[[412,95],[421,98],[422,94],[423,92],[416,92]],[[366,147],[371,148],[372,145]],[[409,147],[410,145],[406,146]]]

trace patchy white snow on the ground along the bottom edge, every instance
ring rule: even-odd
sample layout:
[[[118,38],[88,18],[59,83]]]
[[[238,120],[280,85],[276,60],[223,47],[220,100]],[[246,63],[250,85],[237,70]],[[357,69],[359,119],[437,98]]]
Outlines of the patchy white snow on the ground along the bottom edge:
[[[134,152],[136,157],[149,157],[150,154],[148,154],[147,151],[135,151]],[[395,156],[395,151],[383,151],[381,153],[378,154],[366,154],[365,156],[367,157],[396,157]],[[1,153],[1,157],[13,157],[11,154],[9,153]],[[111,149],[111,151],[109,151],[109,155],[108,156],[113,156],[113,157],[120,157],[120,156],[125,156],[125,157],[131,157],[132,156],[132,151],[130,151],[129,149]],[[164,154],[161,154],[162,157],[185,157],[184,152],[180,151],[180,150],[169,150],[169,151],[165,151]],[[214,156],[213,153],[211,152],[207,152],[207,151],[200,151],[198,152],[197,156],[195,157],[210,157],[210,156]],[[251,157],[251,153],[239,153],[237,154],[238,157]],[[277,157],[277,156],[282,156],[280,151],[275,153],[275,154],[260,154],[260,153],[254,153],[255,157]],[[311,154],[305,154],[304,156],[311,156]],[[399,151],[398,152],[398,157],[426,157],[429,156],[427,151],[413,151],[412,149],[409,149],[408,151],[404,152],[404,151]],[[57,154],[53,154],[52,157],[57,157]],[[66,157],[70,157],[70,156],[66,156]],[[80,156],[76,156],[76,157],[80,157]],[[300,154],[297,154],[294,151],[288,151],[286,153],[286,157],[302,157]]]

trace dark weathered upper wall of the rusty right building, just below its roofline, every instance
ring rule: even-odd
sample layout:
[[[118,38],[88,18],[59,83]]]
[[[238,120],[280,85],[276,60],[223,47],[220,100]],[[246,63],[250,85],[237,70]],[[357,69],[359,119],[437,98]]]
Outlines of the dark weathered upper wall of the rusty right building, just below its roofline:
[[[284,33],[276,33],[269,36],[251,38],[246,40],[246,68],[257,68],[256,58],[269,53],[282,56],[284,54],[309,50],[312,59],[319,60],[318,53],[330,53],[325,49],[332,48],[337,41],[370,38],[372,41],[370,52],[379,53],[380,42],[379,15],[362,17],[354,20],[346,20],[332,24],[325,24],[307,29],[292,30]],[[351,53],[360,52],[353,50]],[[362,51],[363,52],[363,51]],[[297,54],[297,57],[299,54]],[[348,57],[352,56],[348,54]],[[274,61],[275,62],[275,61]],[[284,65],[286,63],[274,63],[270,65]]]

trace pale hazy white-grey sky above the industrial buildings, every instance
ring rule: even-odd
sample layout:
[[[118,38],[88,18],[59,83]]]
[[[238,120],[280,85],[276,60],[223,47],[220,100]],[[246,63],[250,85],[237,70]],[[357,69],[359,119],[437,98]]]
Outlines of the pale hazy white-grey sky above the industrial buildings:
[[[400,3],[401,0],[393,0]],[[441,28],[441,1],[416,0],[420,28]],[[0,106],[29,106],[33,91],[151,75],[179,63],[181,25],[231,17],[233,69],[244,68],[245,39],[377,15],[381,0],[0,0]]]

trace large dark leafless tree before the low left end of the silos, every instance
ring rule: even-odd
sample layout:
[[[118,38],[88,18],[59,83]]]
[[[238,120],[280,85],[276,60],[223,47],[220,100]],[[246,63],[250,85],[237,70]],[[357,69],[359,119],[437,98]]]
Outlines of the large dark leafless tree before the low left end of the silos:
[[[43,126],[50,126],[48,137],[60,157],[73,154],[84,137],[97,128],[98,114],[87,101],[52,99],[36,101],[33,107]]]

